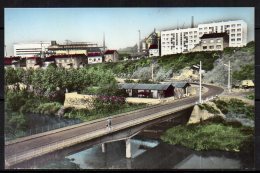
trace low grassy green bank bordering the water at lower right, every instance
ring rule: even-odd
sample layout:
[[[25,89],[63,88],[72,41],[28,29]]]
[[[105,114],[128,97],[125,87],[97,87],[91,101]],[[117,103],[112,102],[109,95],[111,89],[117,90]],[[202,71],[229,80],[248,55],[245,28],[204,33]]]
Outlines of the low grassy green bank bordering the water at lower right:
[[[179,125],[167,130],[161,139],[194,150],[248,151],[253,148],[253,128],[212,118],[199,124]]]

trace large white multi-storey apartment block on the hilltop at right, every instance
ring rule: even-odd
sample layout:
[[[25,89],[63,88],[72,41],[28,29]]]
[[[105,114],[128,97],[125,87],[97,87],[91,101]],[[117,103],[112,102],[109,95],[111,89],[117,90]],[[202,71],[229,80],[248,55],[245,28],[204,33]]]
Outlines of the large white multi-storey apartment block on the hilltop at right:
[[[203,34],[227,32],[229,47],[247,44],[247,24],[243,20],[199,24],[196,28],[161,31],[161,56],[190,52]]]

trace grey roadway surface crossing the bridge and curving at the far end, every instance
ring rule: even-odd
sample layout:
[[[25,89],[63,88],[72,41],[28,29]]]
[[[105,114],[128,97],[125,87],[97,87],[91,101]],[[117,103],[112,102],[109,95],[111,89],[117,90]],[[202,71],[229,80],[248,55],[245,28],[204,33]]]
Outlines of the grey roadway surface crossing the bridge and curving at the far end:
[[[205,99],[207,97],[215,96],[221,94],[224,90],[220,87],[211,86],[211,85],[203,85],[208,88],[208,91],[202,95],[202,98]],[[133,119],[142,118],[145,116],[152,115],[154,113],[158,113],[161,111],[165,111],[167,109],[177,108],[179,106],[183,106],[186,104],[195,103],[198,101],[198,96],[180,99],[173,103],[168,103],[164,105],[159,105],[156,107],[152,107],[150,109],[144,109],[133,113],[128,113],[124,116],[112,117],[112,126],[119,125],[121,123],[125,123],[127,121],[131,121]],[[32,149],[40,148],[42,146],[49,145],[51,143],[59,142],[62,140],[66,140],[69,138],[73,138],[76,136],[80,136],[86,133],[90,133],[96,130],[101,130],[106,128],[107,121],[102,120],[95,123],[87,124],[84,126],[60,131],[57,133],[40,136],[37,138],[32,138],[29,140],[21,141],[18,143],[5,145],[5,158],[10,158],[13,155],[19,155],[19,153],[26,152]]]

